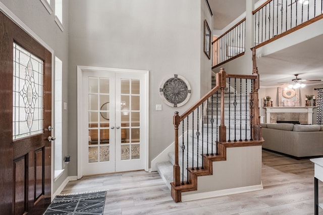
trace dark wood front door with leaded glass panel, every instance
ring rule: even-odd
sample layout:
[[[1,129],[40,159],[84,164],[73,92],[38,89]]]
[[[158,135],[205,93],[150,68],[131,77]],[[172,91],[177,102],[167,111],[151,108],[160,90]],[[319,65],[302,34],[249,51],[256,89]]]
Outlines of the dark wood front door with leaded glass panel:
[[[0,13],[0,214],[50,203],[51,53]]]

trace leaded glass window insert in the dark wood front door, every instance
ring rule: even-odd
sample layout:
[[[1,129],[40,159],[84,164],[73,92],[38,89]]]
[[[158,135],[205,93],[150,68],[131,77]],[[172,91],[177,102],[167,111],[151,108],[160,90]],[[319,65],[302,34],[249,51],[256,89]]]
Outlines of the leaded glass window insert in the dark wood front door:
[[[43,61],[14,43],[13,139],[43,132]]]

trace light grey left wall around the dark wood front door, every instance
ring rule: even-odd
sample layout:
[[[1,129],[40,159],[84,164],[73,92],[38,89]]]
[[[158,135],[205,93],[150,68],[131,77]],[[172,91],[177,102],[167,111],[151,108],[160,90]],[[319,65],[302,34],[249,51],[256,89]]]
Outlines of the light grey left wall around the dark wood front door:
[[[41,40],[43,40],[63,62],[63,101],[67,101],[68,85],[68,2],[63,1],[63,23],[64,32],[54,21],[54,13],[49,15],[40,0],[1,0],[1,3],[15,14],[31,31],[33,31]],[[52,5],[55,9],[55,5]],[[55,58],[52,64],[55,64]],[[52,71],[53,72],[53,71]],[[67,121],[68,111],[63,111],[63,153],[67,153]],[[63,154],[64,155],[64,154]],[[67,155],[67,154],[66,154]],[[52,155],[53,156],[53,155]],[[66,167],[68,169],[68,166]],[[55,192],[61,183],[67,178],[68,170],[53,184]]]

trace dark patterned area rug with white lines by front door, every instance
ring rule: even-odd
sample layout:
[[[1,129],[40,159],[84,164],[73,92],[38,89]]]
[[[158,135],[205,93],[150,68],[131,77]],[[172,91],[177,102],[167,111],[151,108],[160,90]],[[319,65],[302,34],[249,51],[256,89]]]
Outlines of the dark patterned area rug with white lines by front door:
[[[44,215],[103,214],[106,191],[58,195]]]

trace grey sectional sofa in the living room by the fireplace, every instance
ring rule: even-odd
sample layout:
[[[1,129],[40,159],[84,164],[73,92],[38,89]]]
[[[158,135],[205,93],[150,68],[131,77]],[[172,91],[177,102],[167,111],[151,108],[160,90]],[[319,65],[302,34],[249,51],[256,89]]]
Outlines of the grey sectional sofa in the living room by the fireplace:
[[[323,156],[323,126],[260,124],[262,148],[288,154],[294,158]]]

